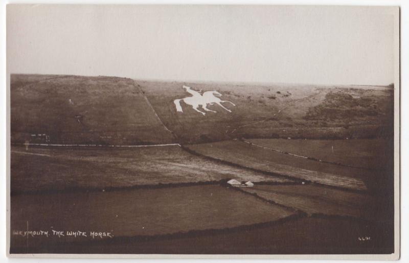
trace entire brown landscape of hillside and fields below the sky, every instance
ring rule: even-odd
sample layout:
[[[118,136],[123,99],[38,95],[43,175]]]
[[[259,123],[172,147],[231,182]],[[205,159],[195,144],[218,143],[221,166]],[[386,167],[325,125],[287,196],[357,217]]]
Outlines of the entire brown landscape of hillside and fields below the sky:
[[[184,84],[236,106],[176,112]],[[10,95],[11,253],[393,252],[392,87],[12,75]]]

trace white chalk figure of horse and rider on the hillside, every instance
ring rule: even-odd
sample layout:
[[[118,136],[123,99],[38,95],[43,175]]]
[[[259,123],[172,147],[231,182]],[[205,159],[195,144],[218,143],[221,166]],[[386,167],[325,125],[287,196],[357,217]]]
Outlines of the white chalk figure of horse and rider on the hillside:
[[[191,105],[192,108],[198,112],[201,113],[202,115],[206,115],[206,113],[200,111],[198,108],[201,106],[206,112],[213,112],[216,113],[215,111],[212,111],[211,109],[207,108],[207,105],[214,105],[217,104],[220,107],[224,108],[228,112],[232,112],[230,109],[225,108],[221,102],[230,102],[233,106],[236,106],[233,102],[228,101],[228,100],[221,100],[220,98],[216,96],[222,96],[219,92],[217,91],[207,91],[201,95],[199,92],[192,90],[189,86],[183,86],[183,88],[186,90],[186,92],[190,93],[192,97],[186,97],[183,99],[176,99],[173,101],[176,105],[176,111],[183,113],[183,109],[180,106],[180,101],[183,100],[186,104]]]

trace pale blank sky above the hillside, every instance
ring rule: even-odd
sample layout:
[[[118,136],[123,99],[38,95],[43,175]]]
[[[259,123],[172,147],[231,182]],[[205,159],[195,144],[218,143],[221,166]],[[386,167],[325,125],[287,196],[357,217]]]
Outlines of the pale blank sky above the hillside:
[[[396,8],[9,5],[7,11],[8,73],[368,85],[394,80]]]

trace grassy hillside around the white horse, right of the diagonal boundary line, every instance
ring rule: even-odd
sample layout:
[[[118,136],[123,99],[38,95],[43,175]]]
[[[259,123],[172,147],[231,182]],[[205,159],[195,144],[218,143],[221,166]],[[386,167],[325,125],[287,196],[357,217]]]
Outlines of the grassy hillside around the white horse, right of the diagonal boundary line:
[[[393,134],[393,90],[390,87],[249,85],[223,83],[137,81],[164,123],[179,137],[193,143],[231,138],[374,138]],[[218,105],[206,116],[174,99],[199,91],[216,90],[231,109]]]

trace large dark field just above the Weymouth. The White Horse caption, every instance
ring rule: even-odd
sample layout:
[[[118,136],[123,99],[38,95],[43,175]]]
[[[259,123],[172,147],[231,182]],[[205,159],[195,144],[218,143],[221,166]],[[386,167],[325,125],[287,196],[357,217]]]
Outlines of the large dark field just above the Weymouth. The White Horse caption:
[[[234,228],[277,221],[294,214],[218,185],[18,195],[13,196],[12,207],[19,208],[11,212],[12,230],[26,230],[28,224],[29,229],[37,231],[110,232],[112,238]],[[15,246],[26,244],[27,238],[12,237]],[[43,236],[42,240],[84,242],[90,240],[87,237]],[[37,238],[36,242],[40,242],[41,237]]]

